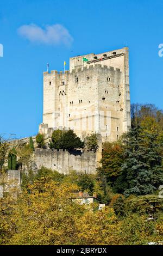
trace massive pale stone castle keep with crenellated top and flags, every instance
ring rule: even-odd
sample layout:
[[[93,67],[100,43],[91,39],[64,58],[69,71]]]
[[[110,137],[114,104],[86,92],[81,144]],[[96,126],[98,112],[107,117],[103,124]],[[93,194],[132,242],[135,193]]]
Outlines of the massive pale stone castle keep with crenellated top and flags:
[[[40,133],[72,129],[115,141],[130,129],[128,48],[70,58],[70,71],[43,73]]]

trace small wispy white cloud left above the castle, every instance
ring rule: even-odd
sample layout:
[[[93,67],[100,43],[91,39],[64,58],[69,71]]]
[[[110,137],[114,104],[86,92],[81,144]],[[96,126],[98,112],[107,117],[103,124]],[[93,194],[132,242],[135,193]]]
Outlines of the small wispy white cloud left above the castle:
[[[18,34],[31,42],[40,42],[42,44],[71,45],[73,41],[68,30],[60,24],[46,25],[45,28],[41,28],[35,24],[23,25],[18,28]]]

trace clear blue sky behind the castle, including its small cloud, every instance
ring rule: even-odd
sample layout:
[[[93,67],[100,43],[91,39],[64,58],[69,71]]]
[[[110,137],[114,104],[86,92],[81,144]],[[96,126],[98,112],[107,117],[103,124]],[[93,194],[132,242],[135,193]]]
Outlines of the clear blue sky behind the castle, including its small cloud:
[[[47,63],[60,71],[69,57],[125,45],[130,50],[131,103],[163,108],[163,57],[158,56],[162,13],[161,0],[1,1],[0,134],[20,138],[37,133]]]

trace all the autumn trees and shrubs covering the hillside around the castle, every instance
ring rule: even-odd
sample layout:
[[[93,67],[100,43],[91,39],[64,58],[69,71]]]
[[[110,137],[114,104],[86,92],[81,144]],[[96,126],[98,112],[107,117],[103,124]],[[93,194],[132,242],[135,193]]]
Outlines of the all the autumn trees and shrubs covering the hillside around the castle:
[[[95,175],[64,175],[42,167],[32,172],[32,143],[11,149],[0,139],[0,168],[5,157],[17,155],[22,192],[0,199],[0,244],[4,245],[147,245],[163,243],[163,113],[154,105],[131,106],[131,130],[114,143],[103,144],[101,167]],[[45,147],[44,137],[37,145]],[[97,136],[81,141],[73,131],[54,131],[51,149],[98,149]],[[9,157],[8,157],[9,156]],[[16,188],[12,187],[12,190]],[[80,205],[74,191],[98,194],[97,205]],[[15,196],[17,194],[17,197]]]

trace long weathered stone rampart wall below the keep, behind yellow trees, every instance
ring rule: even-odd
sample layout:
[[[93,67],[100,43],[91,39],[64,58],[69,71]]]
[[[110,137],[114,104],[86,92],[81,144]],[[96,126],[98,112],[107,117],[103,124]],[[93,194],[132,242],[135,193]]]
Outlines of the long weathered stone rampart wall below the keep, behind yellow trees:
[[[51,149],[35,149],[35,168],[41,166],[57,170],[60,173],[68,174],[71,169],[87,174],[96,173],[98,167],[97,154],[87,151],[67,151]]]

